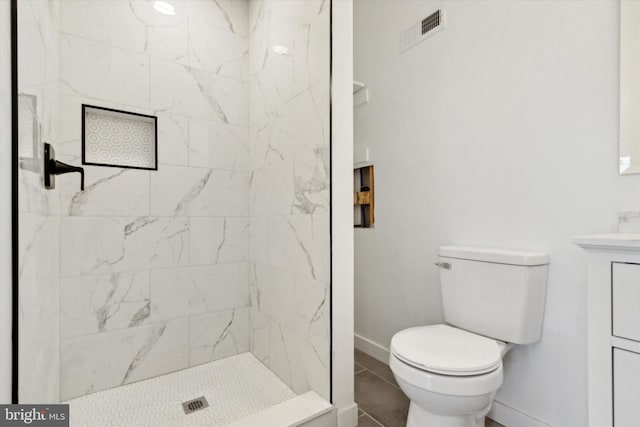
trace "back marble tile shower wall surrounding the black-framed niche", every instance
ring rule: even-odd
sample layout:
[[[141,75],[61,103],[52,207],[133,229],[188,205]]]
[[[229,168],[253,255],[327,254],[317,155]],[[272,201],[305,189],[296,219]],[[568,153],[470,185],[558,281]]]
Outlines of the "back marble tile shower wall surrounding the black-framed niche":
[[[159,124],[158,171],[89,166],[84,193],[43,196],[62,400],[249,350],[248,2],[174,5],[59,3],[58,158],[80,164],[82,103]]]

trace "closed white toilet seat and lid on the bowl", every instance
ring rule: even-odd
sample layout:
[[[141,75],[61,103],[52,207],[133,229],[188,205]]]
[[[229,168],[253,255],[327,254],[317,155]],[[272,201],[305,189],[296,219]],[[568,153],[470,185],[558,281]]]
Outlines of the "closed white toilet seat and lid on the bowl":
[[[449,325],[418,326],[396,333],[391,352],[417,369],[450,376],[496,370],[506,344]]]

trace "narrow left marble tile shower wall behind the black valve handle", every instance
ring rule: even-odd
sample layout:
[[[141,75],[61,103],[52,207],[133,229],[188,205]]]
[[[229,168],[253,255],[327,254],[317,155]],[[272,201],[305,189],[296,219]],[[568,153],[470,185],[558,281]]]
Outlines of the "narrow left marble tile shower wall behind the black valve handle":
[[[60,203],[42,188],[34,146],[56,132],[50,114],[58,103],[57,1],[23,1],[19,50],[19,396],[21,401],[60,399]],[[34,144],[35,142],[35,144]],[[35,152],[34,152],[35,151]]]

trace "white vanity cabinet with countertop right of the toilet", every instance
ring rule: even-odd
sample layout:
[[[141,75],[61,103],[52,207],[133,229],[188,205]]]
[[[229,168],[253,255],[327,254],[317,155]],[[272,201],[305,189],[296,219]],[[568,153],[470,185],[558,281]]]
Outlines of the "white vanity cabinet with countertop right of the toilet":
[[[589,253],[589,427],[637,427],[640,408],[640,234],[577,237]]]

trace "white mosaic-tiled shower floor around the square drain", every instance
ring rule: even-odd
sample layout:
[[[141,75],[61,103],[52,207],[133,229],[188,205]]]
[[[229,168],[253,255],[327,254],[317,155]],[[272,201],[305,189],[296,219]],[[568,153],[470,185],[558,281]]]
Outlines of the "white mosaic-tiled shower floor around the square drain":
[[[205,396],[189,415],[182,402]],[[69,400],[73,427],[224,426],[296,397],[251,353]]]

